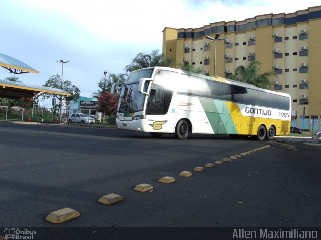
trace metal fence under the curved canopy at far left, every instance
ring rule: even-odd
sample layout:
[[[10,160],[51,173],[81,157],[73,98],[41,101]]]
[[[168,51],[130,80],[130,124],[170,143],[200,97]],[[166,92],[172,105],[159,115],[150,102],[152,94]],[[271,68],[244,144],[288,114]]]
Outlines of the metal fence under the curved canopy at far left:
[[[66,109],[62,109],[63,122],[67,122]],[[60,111],[53,108],[21,108],[0,106],[0,120],[34,121],[59,123]]]

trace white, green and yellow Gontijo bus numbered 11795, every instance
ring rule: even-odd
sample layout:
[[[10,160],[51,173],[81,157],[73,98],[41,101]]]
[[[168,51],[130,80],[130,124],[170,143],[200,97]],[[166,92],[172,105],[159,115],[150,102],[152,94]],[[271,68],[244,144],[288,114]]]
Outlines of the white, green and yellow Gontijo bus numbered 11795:
[[[114,86],[113,86],[114,89]],[[112,90],[112,92],[114,92]],[[120,93],[117,126],[154,137],[189,133],[257,136],[287,135],[291,98],[250,84],[168,67],[133,71]]]

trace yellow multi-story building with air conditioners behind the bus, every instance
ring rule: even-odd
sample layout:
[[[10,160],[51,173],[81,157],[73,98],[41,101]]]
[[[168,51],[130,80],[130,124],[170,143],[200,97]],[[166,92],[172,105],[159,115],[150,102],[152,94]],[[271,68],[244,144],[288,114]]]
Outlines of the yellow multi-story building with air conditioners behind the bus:
[[[166,27],[163,54],[174,57],[175,64],[201,67],[205,75],[215,71],[221,77],[259,61],[260,73],[274,71],[278,76],[272,90],[291,95],[297,116],[292,126],[311,131],[311,119],[321,119],[321,6],[195,29]],[[316,130],[319,125],[314,125]]]

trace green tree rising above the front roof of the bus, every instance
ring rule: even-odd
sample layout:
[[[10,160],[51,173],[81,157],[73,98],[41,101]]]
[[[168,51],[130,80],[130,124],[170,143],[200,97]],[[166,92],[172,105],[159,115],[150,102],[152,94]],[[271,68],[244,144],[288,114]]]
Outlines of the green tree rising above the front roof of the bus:
[[[174,57],[165,57],[158,50],[153,50],[151,54],[138,53],[132,63],[125,67],[127,73],[152,66],[171,66],[175,62]]]

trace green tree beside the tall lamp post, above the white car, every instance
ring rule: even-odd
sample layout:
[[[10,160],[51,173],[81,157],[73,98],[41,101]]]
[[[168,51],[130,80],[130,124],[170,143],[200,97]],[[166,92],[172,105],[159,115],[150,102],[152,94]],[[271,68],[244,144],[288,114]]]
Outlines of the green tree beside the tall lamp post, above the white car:
[[[66,80],[64,80],[61,85],[61,78],[58,74],[49,77],[49,79],[46,81],[46,83],[43,86],[58,88],[71,94],[69,97],[66,97],[64,95],[51,94],[51,93],[43,94],[43,99],[56,97],[58,99],[57,101],[57,106],[59,106],[58,109],[60,109],[60,107],[62,107],[66,102],[69,102],[71,100],[77,100],[80,97],[79,88],[73,85],[70,81],[66,81]]]

